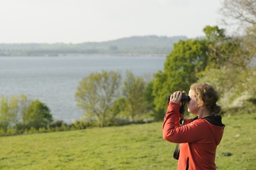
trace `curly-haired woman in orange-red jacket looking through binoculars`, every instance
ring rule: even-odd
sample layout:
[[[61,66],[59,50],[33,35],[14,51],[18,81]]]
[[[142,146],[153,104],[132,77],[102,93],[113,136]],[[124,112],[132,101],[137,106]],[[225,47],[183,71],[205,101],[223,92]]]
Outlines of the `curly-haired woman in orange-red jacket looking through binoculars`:
[[[185,92],[183,92],[185,93]],[[163,139],[180,144],[179,170],[216,169],[215,153],[223,136],[225,125],[221,117],[220,106],[216,105],[219,93],[209,84],[199,83],[190,87],[187,102],[188,112],[195,118],[185,119],[179,125],[179,109],[182,92],[171,95],[163,123]]]

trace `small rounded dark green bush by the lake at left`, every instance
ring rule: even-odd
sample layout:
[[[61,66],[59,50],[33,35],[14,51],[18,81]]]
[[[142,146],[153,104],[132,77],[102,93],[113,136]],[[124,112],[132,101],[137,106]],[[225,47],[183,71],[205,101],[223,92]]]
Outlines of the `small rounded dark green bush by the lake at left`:
[[[34,100],[30,103],[22,118],[23,124],[26,125],[27,128],[34,127],[36,129],[47,126],[53,121],[50,109],[39,100]]]

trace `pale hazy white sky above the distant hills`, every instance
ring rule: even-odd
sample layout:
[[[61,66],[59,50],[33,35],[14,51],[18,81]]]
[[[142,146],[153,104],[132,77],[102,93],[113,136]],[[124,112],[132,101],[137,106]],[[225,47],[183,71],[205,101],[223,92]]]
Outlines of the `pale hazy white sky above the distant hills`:
[[[202,36],[221,0],[1,0],[0,43],[100,42],[133,35]],[[223,28],[223,27],[220,27]]]

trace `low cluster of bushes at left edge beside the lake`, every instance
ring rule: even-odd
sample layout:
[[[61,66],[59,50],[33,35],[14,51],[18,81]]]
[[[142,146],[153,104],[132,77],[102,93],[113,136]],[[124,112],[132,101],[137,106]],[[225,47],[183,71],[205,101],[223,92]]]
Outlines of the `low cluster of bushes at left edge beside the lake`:
[[[53,121],[50,109],[39,100],[29,101],[23,94],[10,99],[2,95],[0,100],[0,135],[39,129]]]

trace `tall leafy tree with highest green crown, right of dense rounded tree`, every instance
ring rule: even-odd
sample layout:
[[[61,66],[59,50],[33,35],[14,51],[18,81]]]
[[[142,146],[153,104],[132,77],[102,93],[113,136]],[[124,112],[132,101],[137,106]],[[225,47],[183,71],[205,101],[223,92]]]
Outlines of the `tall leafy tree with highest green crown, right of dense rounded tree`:
[[[226,37],[225,30],[218,26],[206,26],[204,32],[208,41],[208,62],[206,70],[197,74],[198,81],[214,80],[211,84],[218,86],[220,93],[234,90],[234,87],[241,91],[240,84],[245,78],[242,75],[246,73],[247,56],[250,55],[241,45],[241,39]]]

